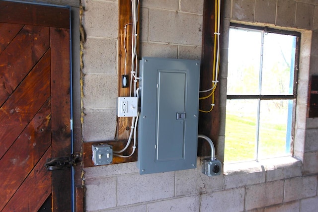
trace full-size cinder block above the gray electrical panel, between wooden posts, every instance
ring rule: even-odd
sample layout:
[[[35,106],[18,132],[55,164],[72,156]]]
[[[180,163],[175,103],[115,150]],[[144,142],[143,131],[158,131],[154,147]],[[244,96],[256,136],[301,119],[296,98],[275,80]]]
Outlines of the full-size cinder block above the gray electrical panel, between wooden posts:
[[[202,15],[150,9],[149,24],[150,41],[195,46],[202,43]]]

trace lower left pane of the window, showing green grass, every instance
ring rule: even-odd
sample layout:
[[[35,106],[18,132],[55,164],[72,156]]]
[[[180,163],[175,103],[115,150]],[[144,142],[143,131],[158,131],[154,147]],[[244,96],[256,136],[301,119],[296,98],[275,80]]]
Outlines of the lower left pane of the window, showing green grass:
[[[226,162],[255,159],[257,100],[228,99],[225,127]]]

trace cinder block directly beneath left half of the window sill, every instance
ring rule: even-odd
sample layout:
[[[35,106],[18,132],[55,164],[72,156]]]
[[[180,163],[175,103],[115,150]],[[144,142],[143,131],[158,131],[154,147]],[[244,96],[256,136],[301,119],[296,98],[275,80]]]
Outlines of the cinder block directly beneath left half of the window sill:
[[[238,188],[241,186],[264,183],[265,176],[266,176],[266,172],[264,171],[225,175],[224,187],[226,189],[230,189],[230,188]]]

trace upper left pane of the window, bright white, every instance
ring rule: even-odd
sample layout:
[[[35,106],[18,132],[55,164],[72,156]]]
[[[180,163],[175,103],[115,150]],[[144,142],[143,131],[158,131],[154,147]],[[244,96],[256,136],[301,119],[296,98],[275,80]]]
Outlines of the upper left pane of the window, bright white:
[[[230,28],[228,95],[260,94],[261,32]]]

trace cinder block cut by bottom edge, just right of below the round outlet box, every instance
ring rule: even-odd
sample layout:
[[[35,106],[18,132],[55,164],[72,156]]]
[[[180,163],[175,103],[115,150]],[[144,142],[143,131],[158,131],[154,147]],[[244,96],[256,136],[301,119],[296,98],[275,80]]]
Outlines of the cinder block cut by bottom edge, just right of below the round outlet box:
[[[244,209],[244,188],[218,191],[201,196],[200,212],[241,212]]]

